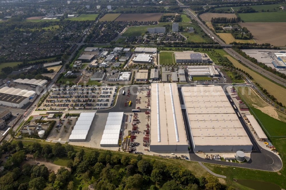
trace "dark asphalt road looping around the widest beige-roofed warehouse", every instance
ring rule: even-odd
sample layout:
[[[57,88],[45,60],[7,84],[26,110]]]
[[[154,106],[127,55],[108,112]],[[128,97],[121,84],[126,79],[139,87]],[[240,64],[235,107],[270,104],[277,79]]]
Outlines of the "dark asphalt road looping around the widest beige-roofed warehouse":
[[[184,104],[182,102],[182,92],[179,88],[179,98],[181,104]],[[229,95],[227,95],[228,98]],[[237,110],[236,110],[237,111]],[[243,125],[243,128],[246,130],[247,135],[249,136],[251,142],[253,143],[255,151],[251,152],[250,160],[246,163],[235,163],[235,162],[226,162],[226,161],[219,161],[219,160],[206,160],[204,158],[201,158],[197,156],[192,147],[192,138],[190,135],[190,126],[188,125],[188,119],[186,110],[182,110],[182,115],[184,119],[187,139],[190,142],[191,151],[189,151],[190,160],[192,161],[198,161],[198,162],[206,162],[206,163],[212,163],[212,164],[219,164],[219,165],[227,165],[227,166],[235,166],[235,167],[244,167],[244,168],[250,168],[250,169],[260,169],[260,170],[266,170],[266,171],[278,171],[282,168],[282,161],[280,158],[274,154],[273,152],[267,151],[263,149],[261,146],[259,146],[256,141],[255,137],[253,137],[252,133],[249,131],[249,128],[246,126],[245,122],[243,121],[243,118],[240,118],[240,121]]]

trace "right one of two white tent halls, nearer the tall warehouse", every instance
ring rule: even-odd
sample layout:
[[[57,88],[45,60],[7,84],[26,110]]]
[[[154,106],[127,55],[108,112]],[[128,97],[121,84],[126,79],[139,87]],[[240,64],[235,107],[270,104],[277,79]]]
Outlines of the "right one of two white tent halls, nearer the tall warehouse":
[[[103,131],[100,146],[118,146],[119,135],[123,122],[123,112],[110,112]]]

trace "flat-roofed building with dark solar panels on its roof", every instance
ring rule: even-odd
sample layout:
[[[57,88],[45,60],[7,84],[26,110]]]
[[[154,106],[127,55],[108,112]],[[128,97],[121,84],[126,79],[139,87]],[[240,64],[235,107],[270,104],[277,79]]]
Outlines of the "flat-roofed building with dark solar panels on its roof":
[[[194,51],[175,52],[176,63],[212,63],[205,53]]]

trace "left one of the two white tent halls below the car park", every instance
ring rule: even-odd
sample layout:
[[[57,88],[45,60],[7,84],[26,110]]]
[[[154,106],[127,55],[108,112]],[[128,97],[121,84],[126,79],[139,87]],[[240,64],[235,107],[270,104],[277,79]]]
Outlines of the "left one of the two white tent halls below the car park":
[[[94,116],[95,112],[81,113],[69,136],[69,141],[86,141]]]

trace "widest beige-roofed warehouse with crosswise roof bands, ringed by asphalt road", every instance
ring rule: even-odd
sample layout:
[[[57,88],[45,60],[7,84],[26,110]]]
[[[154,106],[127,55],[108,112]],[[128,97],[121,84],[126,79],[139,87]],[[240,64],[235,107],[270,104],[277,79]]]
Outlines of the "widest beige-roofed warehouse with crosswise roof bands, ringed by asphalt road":
[[[184,86],[194,151],[251,151],[252,143],[221,86]]]

